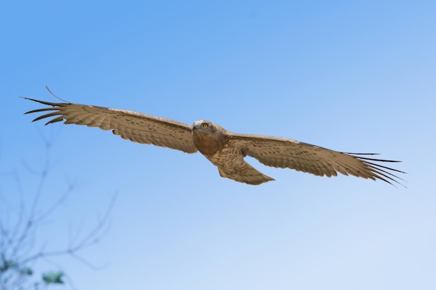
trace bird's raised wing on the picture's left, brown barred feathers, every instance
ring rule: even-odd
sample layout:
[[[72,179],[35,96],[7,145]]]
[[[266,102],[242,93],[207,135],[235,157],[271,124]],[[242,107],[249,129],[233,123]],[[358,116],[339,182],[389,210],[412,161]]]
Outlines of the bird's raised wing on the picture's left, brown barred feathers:
[[[37,99],[30,100],[50,106],[49,108],[38,108],[27,112],[26,114],[45,113],[45,115],[41,115],[33,122],[54,117],[46,124],[65,120],[65,124],[86,125],[88,127],[99,127],[103,130],[112,130],[115,135],[119,135],[123,139],[141,144],[169,147],[187,153],[197,152],[192,140],[192,126],[188,124],[116,108],[43,102]]]

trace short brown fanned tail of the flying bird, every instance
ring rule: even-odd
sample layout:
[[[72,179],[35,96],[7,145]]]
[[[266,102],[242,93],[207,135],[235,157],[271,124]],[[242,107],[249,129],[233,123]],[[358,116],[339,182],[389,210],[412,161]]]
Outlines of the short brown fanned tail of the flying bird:
[[[221,175],[221,177],[233,179],[237,182],[244,182],[253,185],[275,180],[274,178],[264,175],[262,172],[256,170],[256,168],[249,165],[249,163],[244,163],[244,170],[235,170],[235,168],[231,168],[230,170],[227,168],[218,168],[219,175]]]

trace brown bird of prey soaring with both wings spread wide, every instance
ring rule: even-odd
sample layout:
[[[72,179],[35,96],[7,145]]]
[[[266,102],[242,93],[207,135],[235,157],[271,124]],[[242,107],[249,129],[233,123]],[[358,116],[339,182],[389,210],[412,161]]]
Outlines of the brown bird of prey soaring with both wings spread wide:
[[[389,184],[400,184],[400,177],[393,172],[405,173],[380,164],[400,161],[367,157],[373,154],[337,152],[290,138],[236,134],[207,120],[189,125],[154,115],[74,104],[62,99],[61,103],[29,100],[48,106],[26,113],[44,113],[33,122],[52,118],[47,125],[65,120],[64,124],[111,130],[123,139],[141,144],[169,147],[186,153],[199,151],[217,166],[221,177],[246,184],[263,184],[274,179],[244,161],[245,156],[275,168],[290,168],[327,177],[340,172],[365,179],[380,179]]]

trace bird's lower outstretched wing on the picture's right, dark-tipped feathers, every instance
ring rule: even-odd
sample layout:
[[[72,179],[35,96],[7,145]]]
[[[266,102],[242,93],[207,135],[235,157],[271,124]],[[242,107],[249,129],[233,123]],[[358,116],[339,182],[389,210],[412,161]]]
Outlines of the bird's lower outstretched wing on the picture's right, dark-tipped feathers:
[[[337,152],[327,148],[302,143],[289,138],[279,138],[261,135],[235,134],[229,132],[228,143],[240,148],[244,156],[251,156],[266,166],[290,168],[302,172],[309,172],[318,176],[354,175],[366,179],[380,179],[384,182],[396,182],[400,179],[393,172],[402,172],[382,166],[375,162],[400,162],[383,159],[366,158],[358,154]],[[403,179],[400,179],[403,180]]]

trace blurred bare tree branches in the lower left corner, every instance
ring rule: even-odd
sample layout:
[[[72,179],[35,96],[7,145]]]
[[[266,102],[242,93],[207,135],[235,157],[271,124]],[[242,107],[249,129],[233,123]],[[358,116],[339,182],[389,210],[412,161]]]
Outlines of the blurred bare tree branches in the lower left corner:
[[[42,207],[41,198],[47,192],[46,184],[49,178],[50,159],[49,150],[52,142],[42,136],[44,142],[45,155],[42,161],[41,170],[35,170],[26,162],[22,162],[23,168],[27,173],[38,177],[35,193],[30,199],[25,197],[20,174],[17,170],[0,173],[1,177],[12,177],[9,180],[15,182],[18,197],[15,205],[11,203],[0,191],[0,290],[24,289],[32,287],[30,275],[31,269],[38,261],[52,261],[55,257],[68,256],[80,261],[91,269],[98,270],[104,266],[95,266],[80,255],[86,248],[99,243],[107,234],[110,227],[109,216],[114,207],[116,194],[112,195],[107,208],[101,217],[97,218],[97,223],[86,234],[82,235],[82,227],[79,226],[75,235],[70,236],[65,248],[58,250],[46,249],[47,245],[37,240],[37,232],[41,226],[49,221],[56,209],[67,200],[68,196],[75,191],[75,184],[67,182],[65,191],[48,205]],[[0,182],[1,186],[1,182]],[[11,195],[12,196],[12,195]],[[70,230],[71,232],[71,230]],[[36,247],[39,245],[39,249]],[[56,272],[55,272],[56,273]],[[56,277],[56,276],[55,276]],[[75,288],[71,278],[65,275],[68,284]],[[37,284],[40,282],[36,282]]]

